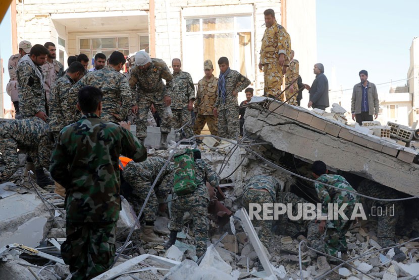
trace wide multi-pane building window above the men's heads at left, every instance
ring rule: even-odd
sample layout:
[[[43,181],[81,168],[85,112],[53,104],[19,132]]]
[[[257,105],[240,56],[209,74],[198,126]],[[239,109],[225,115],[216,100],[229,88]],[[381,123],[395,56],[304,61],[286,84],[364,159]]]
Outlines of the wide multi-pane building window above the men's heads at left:
[[[103,37],[103,38],[80,38],[79,39],[80,53],[84,53],[90,58],[91,65],[96,53],[103,53],[106,58],[114,51],[120,51],[125,56],[129,54],[129,39],[128,37]]]

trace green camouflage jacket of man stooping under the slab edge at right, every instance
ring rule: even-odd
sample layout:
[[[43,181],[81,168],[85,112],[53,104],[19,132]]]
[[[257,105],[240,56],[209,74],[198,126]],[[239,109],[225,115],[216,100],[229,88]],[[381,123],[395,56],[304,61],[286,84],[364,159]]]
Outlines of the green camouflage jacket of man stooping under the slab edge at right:
[[[356,192],[351,185],[340,175],[335,174],[323,174],[316,179],[318,182],[326,183],[339,189],[315,183],[315,189],[319,195],[320,201],[322,202],[322,213],[328,213],[328,204],[329,203],[338,203],[339,207],[343,203],[348,203],[349,205],[355,204],[358,202],[356,194],[350,193],[349,191]]]

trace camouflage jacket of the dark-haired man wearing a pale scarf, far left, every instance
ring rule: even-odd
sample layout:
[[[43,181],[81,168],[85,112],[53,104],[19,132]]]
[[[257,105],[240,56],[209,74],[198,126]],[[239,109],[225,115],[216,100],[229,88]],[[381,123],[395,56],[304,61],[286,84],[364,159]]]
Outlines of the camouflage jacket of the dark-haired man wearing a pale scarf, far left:
[[[41,67],[33,63],[30,56],[24,55],[16,69],[19,90],[19,109],[23,117],[33,117],[38,112],[47,114],[45,76]]]

